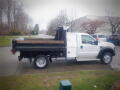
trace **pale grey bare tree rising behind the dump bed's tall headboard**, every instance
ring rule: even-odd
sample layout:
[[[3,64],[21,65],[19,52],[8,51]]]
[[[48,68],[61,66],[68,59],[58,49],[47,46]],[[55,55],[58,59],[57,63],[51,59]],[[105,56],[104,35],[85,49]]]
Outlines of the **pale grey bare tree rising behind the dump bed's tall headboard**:
[[[47,34],[55,35],[57,28],[63,27],[68,21],[66,13],[61,11],[60,14],[49,23]]]

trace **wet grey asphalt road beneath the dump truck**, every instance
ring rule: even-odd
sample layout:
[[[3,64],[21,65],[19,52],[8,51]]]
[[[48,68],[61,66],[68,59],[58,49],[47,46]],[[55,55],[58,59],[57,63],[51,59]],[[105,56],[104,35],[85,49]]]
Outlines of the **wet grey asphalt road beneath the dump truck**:
[[[79,62],[75,61],[54,61],[46,69],[35,69],[27,59],[18,61],[19,53],[13,55],[11,47],[0,47],[0,76],[79,71],[79,70],[120,70],[120,47],[116,47],[116,56],[110,65],[101,64],[99,61]]]

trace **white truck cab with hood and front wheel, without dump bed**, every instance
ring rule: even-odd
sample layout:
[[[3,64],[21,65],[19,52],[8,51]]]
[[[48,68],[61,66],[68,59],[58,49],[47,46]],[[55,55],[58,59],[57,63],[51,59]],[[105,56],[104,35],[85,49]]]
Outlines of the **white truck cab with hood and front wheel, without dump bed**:
[[[112,43],[98,41],[87,33],[67,32],[66,38],[67,58],[75,57],[77,61],[102,60],[108,64],[115,55]]]

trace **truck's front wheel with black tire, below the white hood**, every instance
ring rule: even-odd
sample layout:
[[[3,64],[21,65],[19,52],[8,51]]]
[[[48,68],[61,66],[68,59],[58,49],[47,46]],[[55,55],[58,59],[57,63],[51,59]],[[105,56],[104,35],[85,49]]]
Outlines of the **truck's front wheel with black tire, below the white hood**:
[[[103,53],[101,62],[103,64],[110,64],[112,62],[112,53],[110,53],[110,52]]]

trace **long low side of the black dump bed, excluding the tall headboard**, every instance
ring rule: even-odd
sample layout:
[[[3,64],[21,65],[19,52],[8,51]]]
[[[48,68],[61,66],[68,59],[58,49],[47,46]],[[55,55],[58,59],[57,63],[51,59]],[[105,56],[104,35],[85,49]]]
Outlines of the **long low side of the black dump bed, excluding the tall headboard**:
[[[65,47],[62,40],[13,40],[12,44],[15,51],[56,51]]]

